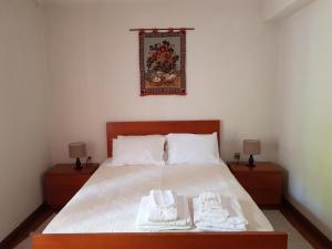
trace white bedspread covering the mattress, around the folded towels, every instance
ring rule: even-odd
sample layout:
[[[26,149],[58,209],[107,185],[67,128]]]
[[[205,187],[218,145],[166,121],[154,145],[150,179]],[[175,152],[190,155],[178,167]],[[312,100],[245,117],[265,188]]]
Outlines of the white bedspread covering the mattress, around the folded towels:
[[[135,221],[141,198],[156,188],[172,189],[189,198],[205,190],[236,196],[248,220],[249,231],[273,230],[222,162],[220,165],[112,167],[106,160],[43,234],[139,231]],[[191,209],[193,205],[189,206]]]

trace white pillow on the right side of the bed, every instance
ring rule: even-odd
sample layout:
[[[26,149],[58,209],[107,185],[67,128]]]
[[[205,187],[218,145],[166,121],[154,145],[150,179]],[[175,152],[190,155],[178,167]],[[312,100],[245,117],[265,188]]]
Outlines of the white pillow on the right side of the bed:
[[[218,164],[217,133],[207,135],[168,134],[167,164]]]

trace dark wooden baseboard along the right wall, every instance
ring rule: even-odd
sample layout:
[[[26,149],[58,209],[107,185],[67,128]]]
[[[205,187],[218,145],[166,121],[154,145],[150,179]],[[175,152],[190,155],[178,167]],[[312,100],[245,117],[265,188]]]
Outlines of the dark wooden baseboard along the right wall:
[[[295,219],[301,220],[305,229],[313,237],[315,237],[315,240],[320,241],[320,243],[326,248],[332,248],[332,241],[320,229],[318,229],[304,215],[302,215],[302,212],[300,212],[288,199],[282,199],[282,206],[288,211],[290,211]]]

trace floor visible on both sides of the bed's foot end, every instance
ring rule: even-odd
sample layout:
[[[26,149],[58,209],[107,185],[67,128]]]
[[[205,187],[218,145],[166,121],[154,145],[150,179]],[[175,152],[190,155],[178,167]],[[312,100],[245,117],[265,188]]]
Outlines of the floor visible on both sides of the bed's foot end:
[[[320,247],[317,245],[312,246],[309,243],[308,240],[304,239],[302,235],[295,229],[294,226],[292,226],[288,219],[279,211],[279,210],[264,210],[263,211],[268,219],[271,221],[272,226],[276,230],[286,230],[289,235],[288,240],[288,248],[289,249],[325,249],[324,247]],[[17,246],[10,247],[10,249],[31,249],[30,239],[28,237],[28,234],[31,231],[41,232],[44,227],[49,224],[49,221],[53,218],[53,214],[50,211],[46,211],[42,215],[42,217],[39,219],[43,219],[44,221],[42,224],[39,222],[38,226],[31,226],[30,230],[25,232],[25,235],[21,236],[21,240],[17,241]]]

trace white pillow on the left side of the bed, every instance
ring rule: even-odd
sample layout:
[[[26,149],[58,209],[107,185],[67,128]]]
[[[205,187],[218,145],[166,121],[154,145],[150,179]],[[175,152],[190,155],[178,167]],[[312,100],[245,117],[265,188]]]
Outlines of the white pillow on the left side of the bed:
[[[112,166],[125,165],[165,165],[165,137],[121,136],[113,139]]]

